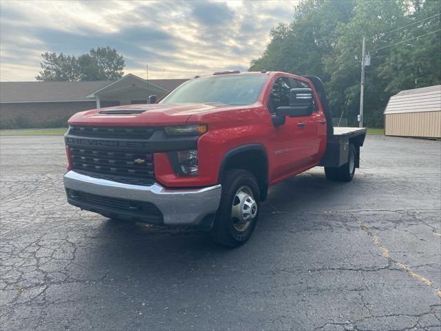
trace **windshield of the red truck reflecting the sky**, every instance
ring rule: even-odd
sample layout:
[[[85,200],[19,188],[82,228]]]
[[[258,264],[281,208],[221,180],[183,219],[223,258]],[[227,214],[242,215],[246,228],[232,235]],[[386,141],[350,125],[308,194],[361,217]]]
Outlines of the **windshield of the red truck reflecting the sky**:
[[[257,101],[266,74],[231,74],[192,79],[179,86],[161,103],[225,103],[243,106]]]

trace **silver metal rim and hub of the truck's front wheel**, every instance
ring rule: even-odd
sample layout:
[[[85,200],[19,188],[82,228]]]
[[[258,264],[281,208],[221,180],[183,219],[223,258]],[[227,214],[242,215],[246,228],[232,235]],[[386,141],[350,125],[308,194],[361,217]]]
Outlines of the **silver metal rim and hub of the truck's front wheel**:
[[[232,205],[233,227],[238,231],[247,230],[251,221],[257,216],[257,208],[251,188],[248,186],[239,188]]]

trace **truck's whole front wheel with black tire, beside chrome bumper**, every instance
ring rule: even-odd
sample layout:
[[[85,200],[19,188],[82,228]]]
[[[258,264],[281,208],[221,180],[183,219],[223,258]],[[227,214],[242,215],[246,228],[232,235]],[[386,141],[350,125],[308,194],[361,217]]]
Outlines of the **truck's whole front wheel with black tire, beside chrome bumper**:
[[[220,206],[210,235],[216,243],[238,247],[251,237],[260,209],[260,191],[254,174],[227,170],[222,181]]]

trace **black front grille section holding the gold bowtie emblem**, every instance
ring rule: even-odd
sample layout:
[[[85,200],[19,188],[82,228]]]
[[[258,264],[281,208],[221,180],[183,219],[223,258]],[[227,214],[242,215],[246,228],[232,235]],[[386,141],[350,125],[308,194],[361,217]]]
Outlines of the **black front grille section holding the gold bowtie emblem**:
[[[153,154],[149,152],[70,147],[70,154],[72,169],[79,172],[105,176],[104,179],[124,183],[132,183],[133,179],[140,184],[152,183],[154,180]]]

